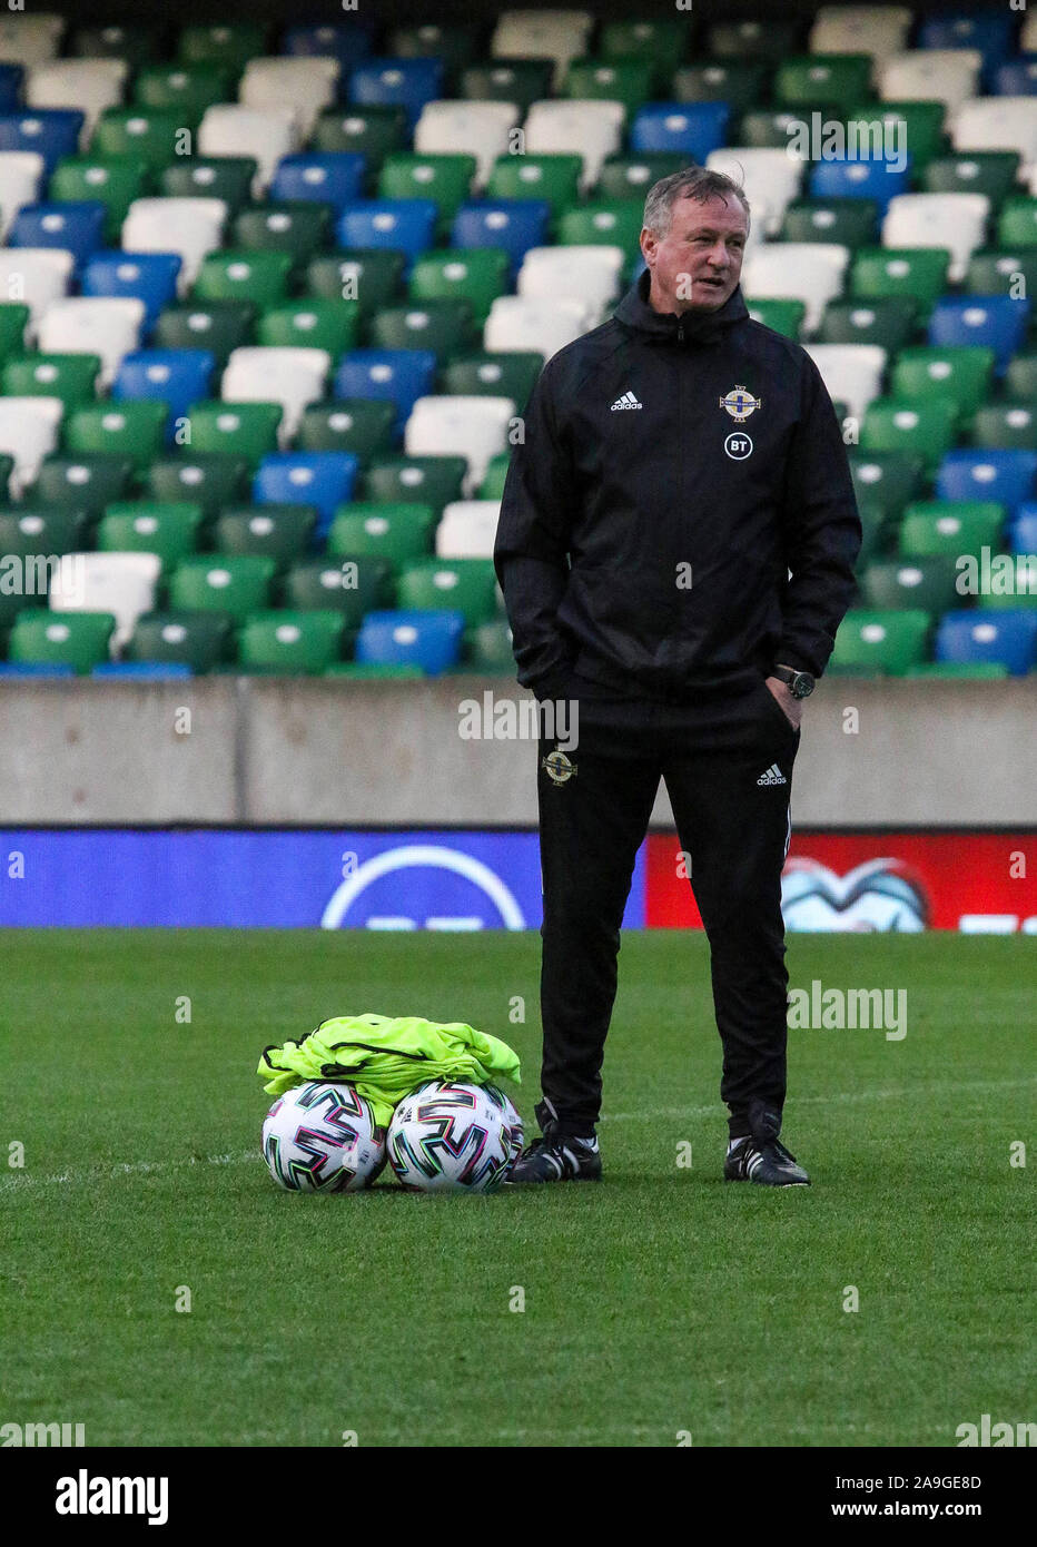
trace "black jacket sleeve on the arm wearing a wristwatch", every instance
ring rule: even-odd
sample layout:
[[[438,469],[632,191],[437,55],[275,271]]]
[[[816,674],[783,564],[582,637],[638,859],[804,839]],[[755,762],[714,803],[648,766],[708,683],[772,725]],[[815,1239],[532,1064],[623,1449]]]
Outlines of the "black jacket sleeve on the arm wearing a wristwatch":
[[[839,419],[810,356],[802,390],[804,412],[785,470],[785,557],[791,579],[774,664],[821,676],[856,594],[861,517]]]

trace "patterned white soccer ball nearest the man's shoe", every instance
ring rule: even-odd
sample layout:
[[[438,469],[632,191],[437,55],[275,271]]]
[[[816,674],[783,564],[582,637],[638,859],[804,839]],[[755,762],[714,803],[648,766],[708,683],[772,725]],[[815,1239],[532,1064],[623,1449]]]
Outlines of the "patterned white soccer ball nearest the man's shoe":
[[[419,1084],[396,1108],[388,1151],[408,1191],[496,1191],[512,1168],[501,1092],[448,1080]]]

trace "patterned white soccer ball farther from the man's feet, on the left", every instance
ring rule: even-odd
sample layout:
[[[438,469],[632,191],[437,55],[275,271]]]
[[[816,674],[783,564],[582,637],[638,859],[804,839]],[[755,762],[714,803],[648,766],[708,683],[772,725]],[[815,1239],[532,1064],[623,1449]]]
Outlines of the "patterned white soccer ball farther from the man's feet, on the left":
[[[351,1084],[311,1080],[266,1114],[263,1159],[292,1193],[357,1193],[385,1165],[385,1129]]]

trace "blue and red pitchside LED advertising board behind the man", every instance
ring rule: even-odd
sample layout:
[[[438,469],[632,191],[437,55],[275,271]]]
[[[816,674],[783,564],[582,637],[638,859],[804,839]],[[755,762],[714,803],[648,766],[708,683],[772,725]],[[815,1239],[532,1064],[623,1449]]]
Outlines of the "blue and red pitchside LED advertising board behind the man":
[[[694,880],[694,876],[692,876]],[[1037,934],[1037,831],[793,835],[790,930]],[[702,928],[675,834],[652,834],[626,928]],[[538,930],[535,832],[0,832],[0,925]]]

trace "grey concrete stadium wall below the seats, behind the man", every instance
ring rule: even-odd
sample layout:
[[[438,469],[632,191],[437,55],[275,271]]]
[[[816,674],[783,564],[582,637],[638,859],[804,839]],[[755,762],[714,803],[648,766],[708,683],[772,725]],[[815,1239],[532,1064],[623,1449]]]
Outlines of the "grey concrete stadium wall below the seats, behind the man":
[[[462,739],[499,678],[6,682],[0,823],[536,823],[529,739]],[[847,710],[858,712],[847,733]],[[189,712],[189,713],[185,713]],[[1037,693],[1009,682],[822,681],[796,764],[797,826],[1032,825]],[[654,826],[671,825],[660,791]]]

